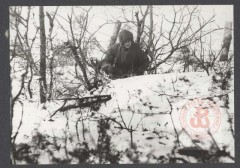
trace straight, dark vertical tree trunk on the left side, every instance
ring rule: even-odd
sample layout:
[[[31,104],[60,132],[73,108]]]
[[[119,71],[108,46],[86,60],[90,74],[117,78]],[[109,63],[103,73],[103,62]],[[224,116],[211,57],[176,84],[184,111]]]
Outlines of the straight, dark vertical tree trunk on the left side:
[[[39,7],[39,23],[40,23],[40,102],[46,102],[46,34],[44,25],[44,11],[43,6]]]

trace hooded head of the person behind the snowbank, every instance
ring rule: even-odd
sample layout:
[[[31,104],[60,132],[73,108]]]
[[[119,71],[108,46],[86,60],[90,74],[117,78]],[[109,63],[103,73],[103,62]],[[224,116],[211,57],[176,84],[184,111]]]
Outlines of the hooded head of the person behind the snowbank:
[[[133,34],[128,30],[122,30],[119,33],[119,42],[121,43],[121,45],[128,49],[132,45]]]

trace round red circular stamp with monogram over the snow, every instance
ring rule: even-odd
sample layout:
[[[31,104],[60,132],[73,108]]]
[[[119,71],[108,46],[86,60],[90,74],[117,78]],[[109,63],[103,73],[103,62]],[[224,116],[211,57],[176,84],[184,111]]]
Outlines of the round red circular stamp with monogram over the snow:
[[[203,139],[217,131],[221,123],[221,113],[213,101],[194,99],[182,107],[180,122],[193,139]]]

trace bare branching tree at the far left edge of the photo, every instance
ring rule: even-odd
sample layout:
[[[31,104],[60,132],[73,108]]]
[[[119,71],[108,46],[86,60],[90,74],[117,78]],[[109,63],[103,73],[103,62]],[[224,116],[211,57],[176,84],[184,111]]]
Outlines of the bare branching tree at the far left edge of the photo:
[[[29,92],[30,98],[32,98],[32,91],[30,86],[32,81],[33,68],[35,68],[35,71],[38,70],[32,58],[32,48],[36,40],[38,28],[36,27],[36,33],[30,40],[28,37],[30,10],[31,8],[28,7],[27,17],[23,18],[21,16],[22,7],[10,8],[10,27],[12,33],[15,34],[14,41],[11,41],[10,43],[11,63],[16,61],[18,66],[22,66],[22,69],[18,69],[17,71],[24,71],[24,73],[21,74],[21,84],[19,91],[15,96],[11,94],[11,110],[13,110],[14,104],[18,101],[20,95],[22,94],[25,88],[25,83],[27,83],[27,91]],[[23,64],[21,64],[21,62],[23,62]],[[30,78],[27,78],[29,69]],[[11,73],[15,73],[14,67],[12,67]],[[26,82],[27,79],[29,80]]]

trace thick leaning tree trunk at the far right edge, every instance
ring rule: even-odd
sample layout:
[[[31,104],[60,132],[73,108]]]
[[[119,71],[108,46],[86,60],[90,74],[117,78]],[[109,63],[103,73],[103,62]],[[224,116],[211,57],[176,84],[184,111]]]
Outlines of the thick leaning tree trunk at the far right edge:
[[[223,46],[219,61],[227,61],[232,40],[232,22],[226,22],[224,27]]]

